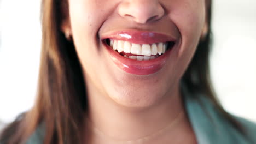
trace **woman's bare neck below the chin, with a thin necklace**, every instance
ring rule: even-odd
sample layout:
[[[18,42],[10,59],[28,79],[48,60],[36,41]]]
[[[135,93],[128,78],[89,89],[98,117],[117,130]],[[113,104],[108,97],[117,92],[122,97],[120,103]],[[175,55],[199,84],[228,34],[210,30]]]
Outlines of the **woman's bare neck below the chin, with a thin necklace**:
[[[177,130],[188,125],[178,87],[167,92],[158,103],[139,109],[118,105],[106,95],[90,93],[90,89],[86,128],[91,141],[148,143],[156,136],[175,137]]]

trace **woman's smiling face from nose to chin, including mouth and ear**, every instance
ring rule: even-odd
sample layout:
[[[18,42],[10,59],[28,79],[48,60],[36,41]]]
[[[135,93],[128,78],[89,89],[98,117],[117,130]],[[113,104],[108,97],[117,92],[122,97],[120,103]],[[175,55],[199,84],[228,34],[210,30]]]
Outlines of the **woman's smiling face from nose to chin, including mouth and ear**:
[[[62,30],[72,32],[88,91],[145,107],[177,90],[205,11],[205,0],[69,0]]]

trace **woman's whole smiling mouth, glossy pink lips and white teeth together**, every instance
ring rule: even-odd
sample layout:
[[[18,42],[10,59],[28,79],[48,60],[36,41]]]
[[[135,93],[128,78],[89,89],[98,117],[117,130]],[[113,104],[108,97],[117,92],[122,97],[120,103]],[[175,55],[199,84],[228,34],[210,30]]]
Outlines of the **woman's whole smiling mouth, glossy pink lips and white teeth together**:
[[[149,75],[164,67],[176,39],[148,31],[115,31],[103,35],[110,58],[122,70]]]

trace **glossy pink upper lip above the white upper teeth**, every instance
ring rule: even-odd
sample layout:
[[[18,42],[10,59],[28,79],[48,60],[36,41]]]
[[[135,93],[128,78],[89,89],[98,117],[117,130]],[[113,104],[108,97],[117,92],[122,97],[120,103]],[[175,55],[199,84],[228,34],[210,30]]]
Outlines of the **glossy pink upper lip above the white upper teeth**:
[[[166,35],[152,31],[138,31],[138,30],[121,30],[111,31],[101,35],[101,40],[116,39],[128,41],[135,44],[153,44],[160,42],[175,42],[176,38],[171,35]]]

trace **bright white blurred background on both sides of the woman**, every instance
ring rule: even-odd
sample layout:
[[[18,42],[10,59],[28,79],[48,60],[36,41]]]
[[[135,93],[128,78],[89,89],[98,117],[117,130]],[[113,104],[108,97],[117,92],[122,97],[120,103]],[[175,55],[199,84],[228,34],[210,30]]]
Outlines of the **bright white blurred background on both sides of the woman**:
[[[40,1],[0,0],[0,129],[33,105]],[[224,108],[256,122],[256,1],[213,0],[211,74]]]

